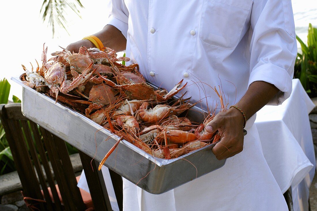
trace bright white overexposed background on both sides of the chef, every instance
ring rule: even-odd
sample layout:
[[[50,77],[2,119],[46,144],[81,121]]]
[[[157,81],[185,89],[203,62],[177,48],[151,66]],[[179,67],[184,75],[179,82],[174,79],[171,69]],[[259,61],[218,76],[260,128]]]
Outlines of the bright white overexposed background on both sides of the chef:
[[[0,7],[0,79],[19,76],[24,71],[21,64],[27,68],[29,62],[36,65],[35,59],[41,61],[42,46],[46,43],[48,54],[60,50],[59,45],[66,47],[69,43],[80,40],[84,36],[94,34],[107,23],[108,9],[106,1],[81,0],[84,9],[80,9],[82,19],[72,11],[65,11],[68,19],[68,32],[56,27],[56,36],[52,39],[51,27],[42,22],[40,8],[43,0],[3,1]],[[293,11],[296,32],[303,41],[307,40],[308,23],[317,26],[316,0],[293,0]],[[49,56],[48,56],[49,57]],[[22,89],[12,81],[12,94],[22,97]],[[10,97],[11,98],[11,97]]]

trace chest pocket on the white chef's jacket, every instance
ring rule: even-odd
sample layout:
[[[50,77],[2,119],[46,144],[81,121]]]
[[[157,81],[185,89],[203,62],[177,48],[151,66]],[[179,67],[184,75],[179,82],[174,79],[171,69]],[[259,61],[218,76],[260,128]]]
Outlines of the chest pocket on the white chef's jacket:
[[[199,26],[201,41],[218,48],[236,48],[248,29],[244,25],[252,3],[252,0],[205,0]]]

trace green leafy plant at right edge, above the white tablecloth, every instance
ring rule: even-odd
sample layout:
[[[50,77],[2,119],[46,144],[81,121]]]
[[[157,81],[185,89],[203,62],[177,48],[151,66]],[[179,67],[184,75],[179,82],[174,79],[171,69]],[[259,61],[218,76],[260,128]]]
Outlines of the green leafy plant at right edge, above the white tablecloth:
[[[299,78],[311,97],[317,96],[317,29],[309,23],[307,45],[298,37],[302,54],[298,53],[294,67],[294,78]]]

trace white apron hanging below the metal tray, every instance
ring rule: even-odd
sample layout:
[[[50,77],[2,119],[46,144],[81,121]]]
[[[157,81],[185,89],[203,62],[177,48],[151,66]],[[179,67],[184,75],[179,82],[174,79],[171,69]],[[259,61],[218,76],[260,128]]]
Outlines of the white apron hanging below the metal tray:
[[[124,210],[288,210],[262,154],[256,125],[247,124],[243,151],[223,167],[160,195],[123,178]]]

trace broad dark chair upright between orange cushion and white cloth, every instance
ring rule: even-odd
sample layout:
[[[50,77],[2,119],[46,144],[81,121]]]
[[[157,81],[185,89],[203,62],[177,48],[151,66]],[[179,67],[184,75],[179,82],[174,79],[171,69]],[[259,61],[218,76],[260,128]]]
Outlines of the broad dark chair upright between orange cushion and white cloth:
[[[96,161],[90,163],[92,158],[81,151],[79,151],[79,156],[81,159],[82,167],[85,171],[89,192],[94,204],[94,209],[97,211],[112,210],[102,172],[98,171],[99,163],[96,163]],[[91,167],[93,167],[93,169]]]

